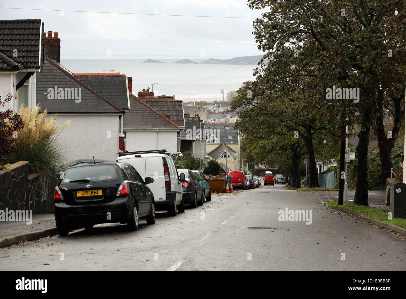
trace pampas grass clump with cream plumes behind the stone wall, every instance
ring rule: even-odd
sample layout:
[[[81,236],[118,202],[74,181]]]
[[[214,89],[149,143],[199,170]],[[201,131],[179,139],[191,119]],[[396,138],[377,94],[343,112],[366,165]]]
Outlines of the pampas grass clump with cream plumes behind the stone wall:
[[[56,181],[55,168],[63,162],[63,153],[57,137],[67,128],[70,120],[58,128],[56,116],[46,120],[47,111],[39,113],[39,109],[39,105],[35,109],[21,106],[20,116],[24,127],[17,131],[15,140],[19,150],[7,155],[7,162],[28,161],[30,172],[45,174],[47,179]]]

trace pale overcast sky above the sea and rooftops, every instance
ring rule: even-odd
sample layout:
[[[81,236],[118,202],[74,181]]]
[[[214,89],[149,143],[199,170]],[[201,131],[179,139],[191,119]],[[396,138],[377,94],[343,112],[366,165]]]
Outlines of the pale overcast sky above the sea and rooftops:
[[[244,0],[171,1],[28,1],[2,0],[2,20],[42,19],[45,32],[59,33],[61,56],[201,56],[260,55],[252,34],[252,19],[160,16],[209,15],[260,17]],[[61,16],[60,10],[63,10]],[[91,13],[71,11],[108,11]],[[118,13],[151,13],[130,15]]]

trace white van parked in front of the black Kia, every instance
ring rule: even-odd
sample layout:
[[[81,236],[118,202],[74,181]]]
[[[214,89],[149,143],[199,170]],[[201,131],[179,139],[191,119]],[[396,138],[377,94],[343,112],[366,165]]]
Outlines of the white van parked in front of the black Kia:
[[[182,201],[183,188],[180,184],[179,175],[173,159],[165,155],[166,151],[143,151],[120,153],[117,162],[126,162],[133,166],[140,176],[152,177],[153,183],[148,184],[151,189],[155,209],[167,210],[171,216],[175,216],[177,208],[179,212],[185,212]]]

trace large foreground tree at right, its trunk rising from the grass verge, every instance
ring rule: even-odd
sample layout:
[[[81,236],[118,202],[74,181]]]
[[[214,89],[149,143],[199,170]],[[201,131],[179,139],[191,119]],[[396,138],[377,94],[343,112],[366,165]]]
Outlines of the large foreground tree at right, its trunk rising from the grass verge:
[[[289,92],[284,81],[300,83],[306,79],[312,82],[310,86],[315,87],[313,92],[320,95],[319,100],[325,96],[321,111],[324,118],[329,117],[337,121],[338,127],[343,127],[348,115],[350,126],[358,124],[354,203],[368,205],[367,152],[371,122],[379,115],[375,112],[382,95],[391,85],[404,86],[405,82],[406,3],[396,0],[250,0],[248,3],[254,9],[270,8],[254,21],[258,48],[266,52],[255,72],[257,80],[267,83],[269,89],[284,86],[282,91]],[[335,87],[340,90],[339,97]],[[333,97],[326,95],[328,88],[330,95],[335,90]],[[341,88],[355,88],[358,96],[343,99]],[[401,90],[398,86],[395,89]],[[345,131],[339,140],[343,138]]]

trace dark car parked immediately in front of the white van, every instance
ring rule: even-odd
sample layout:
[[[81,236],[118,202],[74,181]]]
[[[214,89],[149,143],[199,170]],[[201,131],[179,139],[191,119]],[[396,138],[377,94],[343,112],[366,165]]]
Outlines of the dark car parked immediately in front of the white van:
[[[178,173],[183,188],[183,202],[191,207],[197,207],[198,204],[203,205],[204,191],[199,184],[202,178],[197,179],[194,172],[189,169],[178,169]]]

